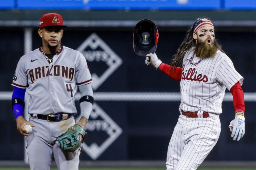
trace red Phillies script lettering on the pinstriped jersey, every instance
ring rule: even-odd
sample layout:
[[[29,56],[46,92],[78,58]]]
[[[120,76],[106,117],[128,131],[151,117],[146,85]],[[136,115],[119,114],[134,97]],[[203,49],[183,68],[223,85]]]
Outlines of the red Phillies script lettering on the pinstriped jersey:
[[[208,77],[204,74],[195,74],[195,68],[189,68],[187,72],[184,72],[185,65],[182,66],[182,80],[191,80],[191,81],[203,81],[204,83],[208,82]]]

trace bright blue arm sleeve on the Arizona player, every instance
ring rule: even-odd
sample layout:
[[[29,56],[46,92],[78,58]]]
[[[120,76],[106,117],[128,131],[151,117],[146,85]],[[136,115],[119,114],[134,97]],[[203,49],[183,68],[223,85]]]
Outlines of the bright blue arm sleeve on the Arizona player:
[[[26,89],[24,89],[24,88],[14,87],[13,94],[12,94],[12,99],[20,98],[24,101],[25,100],[25,92],[26,92]],[[22,105],[15,104],[15,105],[13,105],[12,110],[14,112],[15,119],[18,116],[23,116],[24,108],[23,108]]]

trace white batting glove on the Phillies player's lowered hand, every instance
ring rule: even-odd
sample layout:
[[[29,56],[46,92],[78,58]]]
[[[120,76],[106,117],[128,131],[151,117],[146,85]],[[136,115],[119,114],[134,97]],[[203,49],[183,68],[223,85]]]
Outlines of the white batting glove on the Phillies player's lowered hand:
[[[229,123],[229,129],[233,140],[239,141],[245,133],[244,116],[237,115],[234,120]]]

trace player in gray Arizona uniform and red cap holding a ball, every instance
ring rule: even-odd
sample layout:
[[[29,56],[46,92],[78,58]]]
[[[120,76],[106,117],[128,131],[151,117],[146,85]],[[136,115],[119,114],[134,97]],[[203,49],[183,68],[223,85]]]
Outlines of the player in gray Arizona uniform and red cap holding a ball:
[[[86,128],[94,102],[90,71],[82,53],[60,44],[62,28],[66,27],[61,15],[45,14],[39,24],[42,47],[20,58],[12,82],[15,86],[12,109],[17,129],[27,136],[30,169],[49,170],[54,156],[58,169],[78,170],[80,150],[62,151],[56,137],[75,123]],[[75,122],[77,88],[81,92],[81,116]],[[23,117],[26,90],[29,121]],[[31,133],[25,125],[32,127]],[[81,135],[79,138],[82,141]]]

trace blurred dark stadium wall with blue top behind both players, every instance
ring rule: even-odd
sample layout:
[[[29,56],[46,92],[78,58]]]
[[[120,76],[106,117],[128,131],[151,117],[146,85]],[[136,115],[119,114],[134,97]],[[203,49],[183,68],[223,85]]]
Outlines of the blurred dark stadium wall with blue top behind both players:
[[[246,133],[239,142],[230,137],[234,108],[226,91],[221,136],[199,168],[255,169],[255,10],[255,0],[0,0],[0,167],[28,168],[24,137],[16,130],[11,109],[11,82],[19,58],[40,47],[40,17],[53,12],[68,26],[63,45],[84,54],[94,80],[95,105],[81,167],[165,169],[179,116],[179,82],[146,66],[145,58],[134,53],[133,28],[141,19],[153,20],[159,31],[156,53],[170,63],[195,19],[208,17],[244,77]]]

